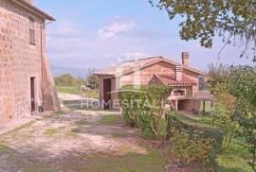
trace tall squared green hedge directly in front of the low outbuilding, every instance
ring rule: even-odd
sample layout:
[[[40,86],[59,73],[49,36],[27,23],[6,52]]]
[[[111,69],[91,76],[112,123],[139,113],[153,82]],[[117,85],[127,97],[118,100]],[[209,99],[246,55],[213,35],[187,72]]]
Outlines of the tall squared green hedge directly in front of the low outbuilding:
[[[164,102],[172,92],[167,86],[125,87],[119,92],[122,115],[127,124],[137,126],[143,137],[160,138],[160,120]]]

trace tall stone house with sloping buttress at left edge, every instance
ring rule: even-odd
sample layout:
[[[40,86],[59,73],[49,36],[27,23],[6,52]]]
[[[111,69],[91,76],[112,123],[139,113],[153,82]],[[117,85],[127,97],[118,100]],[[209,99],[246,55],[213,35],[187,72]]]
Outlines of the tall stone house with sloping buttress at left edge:
[[[33,0],[0,0],[0,126],[60,103],[46,58],[46,21]]]

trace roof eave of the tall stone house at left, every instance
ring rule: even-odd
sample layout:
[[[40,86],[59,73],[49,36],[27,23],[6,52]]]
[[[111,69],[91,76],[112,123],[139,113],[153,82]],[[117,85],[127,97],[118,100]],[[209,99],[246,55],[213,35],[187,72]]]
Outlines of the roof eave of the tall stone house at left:
[[[43,10],[41,9],[38,9],[36,8],[35,6],[27,3],[26,1],[24,0],[11,0],[12,2],[14,2],[15,4],[41,16],[41,17],[44,17],[46,20],[49,20],[49,21],[55,21],[55,19],[50,16],[49,14],[47,14],[46,12],[44,12]]]

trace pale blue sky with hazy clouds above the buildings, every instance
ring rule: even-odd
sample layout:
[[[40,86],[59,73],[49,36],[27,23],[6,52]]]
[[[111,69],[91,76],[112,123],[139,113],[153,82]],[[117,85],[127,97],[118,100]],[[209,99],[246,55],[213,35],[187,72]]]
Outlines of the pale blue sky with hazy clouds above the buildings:
[[[56,21],[46,26],[46,53],[53,65],[103,69],[125,60],[164,56],[181,61],[190,52],[190,65],[207,71],[211,62],[251,64],[239,58],[243,49],[213,39],[213,47],[182,41],[180,18],[170,21],[165,11],[148,0],[35,0]]]

